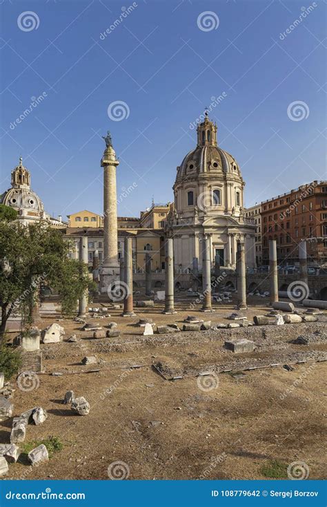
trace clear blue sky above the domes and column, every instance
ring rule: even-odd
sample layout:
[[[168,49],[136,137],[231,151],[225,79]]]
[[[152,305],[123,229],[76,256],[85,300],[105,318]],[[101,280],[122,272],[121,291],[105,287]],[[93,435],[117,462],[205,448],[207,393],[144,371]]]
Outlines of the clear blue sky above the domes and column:
[[[172,201],[196,144],[190,123],[223,93],[210,117],[241,167],[246,205],[326,179],[324,1],[0,3],[0,192],[21,155],[46,211],[101,212],[110,129],[118,196],[135,187],[119,214],[139,216],[152,196]]]

